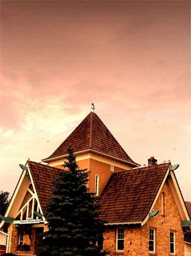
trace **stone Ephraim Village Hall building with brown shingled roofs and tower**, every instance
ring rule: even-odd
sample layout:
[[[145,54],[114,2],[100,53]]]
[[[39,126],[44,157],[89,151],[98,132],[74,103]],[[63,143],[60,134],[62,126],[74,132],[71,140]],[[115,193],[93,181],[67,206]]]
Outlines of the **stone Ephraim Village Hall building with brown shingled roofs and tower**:
[[[184,202],[175,177],[179,165],[157,164],[149,157],[148,166],[140,167],[93,112],[42,160],[44,164],[30,160],[20,164],[21,177],[0,216],[7,252],[32,256],[38,251],[39,233],[47,230],[43,213],[52,181],[64,169],[68,145],[79,168],[91,171],[90,192],[101,195],[99,218],[107,220],[103,230],[107,255],[191,255],[191,203]]]

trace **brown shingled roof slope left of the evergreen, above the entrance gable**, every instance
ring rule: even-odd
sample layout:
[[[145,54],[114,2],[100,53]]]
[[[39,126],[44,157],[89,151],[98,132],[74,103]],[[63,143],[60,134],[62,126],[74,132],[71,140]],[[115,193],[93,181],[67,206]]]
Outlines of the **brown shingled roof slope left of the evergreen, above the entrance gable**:
[[[29,166],[42,212],[44,213],[48,203],[48,198],[52,195],[52,182],[55,177],[60,176],[61,169],[32,161],[27,161],[27,164]]]

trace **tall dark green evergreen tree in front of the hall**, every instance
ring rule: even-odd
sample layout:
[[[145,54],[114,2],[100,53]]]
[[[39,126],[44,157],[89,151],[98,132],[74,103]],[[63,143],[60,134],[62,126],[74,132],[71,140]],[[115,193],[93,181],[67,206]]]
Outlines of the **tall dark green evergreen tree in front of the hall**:
[[[67,171],[53,182],[54,188],[44,213],[49,231],[43,233],[37,256],[100,255],[98,231],[104,221],[99,220],[98,197],[87,188],[90,171],[80,170],[73,149],[64,162]]]

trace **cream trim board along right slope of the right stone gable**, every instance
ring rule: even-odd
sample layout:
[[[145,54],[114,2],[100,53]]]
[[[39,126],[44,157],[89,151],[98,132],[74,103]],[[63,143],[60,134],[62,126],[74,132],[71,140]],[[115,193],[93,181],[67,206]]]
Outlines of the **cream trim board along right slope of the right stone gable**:
[[[174,201],[177,204],[179,213],[180,213],[180,217],[182,219],[182,221],[185,220],[190,220],[187,209],[185,208],[185,204],[177,183],[177,180],[174,176],[173,171],[170,172],[170,178],[168,179],[172,194],[174,196]]]

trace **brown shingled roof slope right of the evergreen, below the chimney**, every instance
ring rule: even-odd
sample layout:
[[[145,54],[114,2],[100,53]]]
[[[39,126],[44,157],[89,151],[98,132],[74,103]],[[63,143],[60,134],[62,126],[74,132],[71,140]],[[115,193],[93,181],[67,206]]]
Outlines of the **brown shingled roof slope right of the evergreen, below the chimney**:
[[[109,223],[142,222],[148,215],[170,163],[113,173],[99,203]]]

